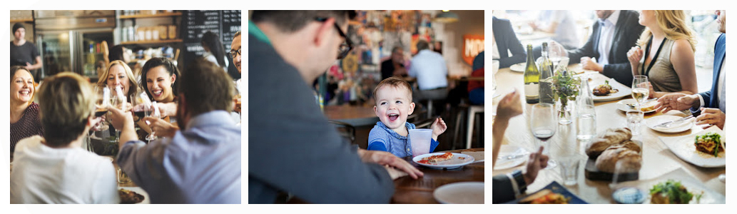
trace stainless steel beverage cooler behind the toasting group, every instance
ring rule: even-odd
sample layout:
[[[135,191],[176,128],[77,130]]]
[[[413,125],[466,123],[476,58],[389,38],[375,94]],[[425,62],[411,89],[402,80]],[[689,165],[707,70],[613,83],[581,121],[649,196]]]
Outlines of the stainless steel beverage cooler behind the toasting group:
[[[115,10],[37,10],[35,16],[43,75],[75,72],[97,81],[98,68],[105,69],[102,41],[115,44]]]

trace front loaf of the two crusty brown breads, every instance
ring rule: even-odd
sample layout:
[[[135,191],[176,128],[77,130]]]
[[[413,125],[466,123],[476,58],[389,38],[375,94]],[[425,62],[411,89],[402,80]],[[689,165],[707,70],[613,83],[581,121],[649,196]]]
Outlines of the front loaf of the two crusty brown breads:
[[[639,146],[638,146],[639,147]],[[617,162],[622,162],[619,173],[637,173],[642,167],[642,156],[629,148],[610,148],[596,158],[596,168],[606,173],[614,173]]]

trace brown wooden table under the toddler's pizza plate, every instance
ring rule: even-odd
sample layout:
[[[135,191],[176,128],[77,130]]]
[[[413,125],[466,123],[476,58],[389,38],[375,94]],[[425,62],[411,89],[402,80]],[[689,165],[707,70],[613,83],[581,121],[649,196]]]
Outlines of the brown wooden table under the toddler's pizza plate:
[[[461,151],[483,151],[483,148],[447,152],[461,153]],[[484,162],[465,165],[459,169],[436,170],[417,165],[412,162],[411,156],[405,157],[405,160],[425,173],[425,176],[420,179],[404,176],[394,180],[394,196],[391,197],[393,204],[438,204],[433,197],[433,191],[437,187],[455,182],[483,182]]]

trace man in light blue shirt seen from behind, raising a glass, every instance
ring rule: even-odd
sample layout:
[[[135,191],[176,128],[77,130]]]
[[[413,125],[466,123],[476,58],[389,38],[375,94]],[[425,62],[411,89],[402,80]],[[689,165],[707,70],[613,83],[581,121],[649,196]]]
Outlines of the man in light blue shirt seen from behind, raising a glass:
[[[230,119],[233,80],[217,64],[198,59],[182,72],[176,117],[178,130],[146,117],[158,139],[138,140],[133,117],[111,108],[122,130],[118,165],[154,204],[240,204],[240,128]]]

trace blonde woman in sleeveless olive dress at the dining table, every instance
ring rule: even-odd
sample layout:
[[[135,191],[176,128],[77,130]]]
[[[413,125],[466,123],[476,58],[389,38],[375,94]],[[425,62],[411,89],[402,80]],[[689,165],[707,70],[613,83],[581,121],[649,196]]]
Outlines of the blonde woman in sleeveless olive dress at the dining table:
[[[640,24],[645,31],[638,46],[627,52],[632,75],[646,75],[650,81],[649,97],[670,92],[694,94],[696,41],[686,26],[683,10],[643,10]]]

